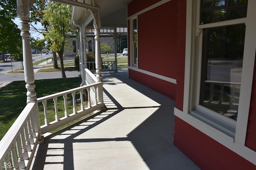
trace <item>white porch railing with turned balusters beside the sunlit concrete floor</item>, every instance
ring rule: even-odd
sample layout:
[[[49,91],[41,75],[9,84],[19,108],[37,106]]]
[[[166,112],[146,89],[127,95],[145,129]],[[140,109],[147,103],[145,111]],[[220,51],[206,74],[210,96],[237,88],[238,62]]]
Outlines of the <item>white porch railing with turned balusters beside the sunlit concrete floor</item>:
[[[96,82],[96,77],[90,70],[86,69],[86,82],[88,85],[66,90],[49,96],[38,98],[37,102],[43,104],[44,125],[38,132],[36,128],[40,127],[38,103],[29,103],[22,113],[16,119],[12,127],[0,141],[0,170],[11,169],[29,169],[38,141],[42,139],[42,135],[71,121],[74,121],[84,115],[100,110],[104,107],[103,102],[99,101],[99,89],[102,90],[103,83]],[[84,91],[88,92],[88,107],[84,106]],[[80,96],[80,109],[76,109],[75,99],[76,93]],[[68,113],[68,98],[72,96],[72,113]],[[91,97],[93,96],[93,97]],[[64,116],[60,117],[58,111],[58,97],[64,100]],[[92,99],[93,98],[93,99]],[[54,101],[55,120],[49,121],[47,101]],[[91,101],[94,101],[93,103]],[[59,102],[60,104],[60,102]]]

